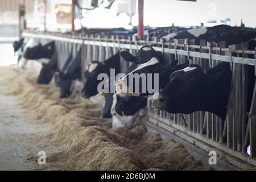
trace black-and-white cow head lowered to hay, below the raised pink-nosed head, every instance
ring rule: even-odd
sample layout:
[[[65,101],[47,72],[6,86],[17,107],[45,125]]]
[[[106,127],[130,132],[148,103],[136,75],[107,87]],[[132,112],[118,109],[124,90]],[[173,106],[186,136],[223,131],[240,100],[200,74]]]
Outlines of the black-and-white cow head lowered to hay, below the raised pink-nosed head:
[[[113,115],[113,127],[131,128],[136,121],[139,111],[147,105],[147,98],[126,96],[120,97],[113,94],[111,114]]]

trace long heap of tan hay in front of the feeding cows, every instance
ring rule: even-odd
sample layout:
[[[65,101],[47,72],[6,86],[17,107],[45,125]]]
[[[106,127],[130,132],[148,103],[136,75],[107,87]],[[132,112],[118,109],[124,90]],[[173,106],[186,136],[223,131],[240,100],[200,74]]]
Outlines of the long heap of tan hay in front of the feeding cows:
[[[131,130],[111,129],[111,122],[100,118],[102,107],[78,94],[60,100],[53,84],[36,85],[38,74],[30,69],[1,68],[1,84],[6,94],[19,97],[20,105],[46,122],[51,131],[41,148],[60,148],[47,156],[57,169],[75,170],[208,170],[193,159],[185,148],[147,133],[142,125]],[[28,160],[35,157],[28,156]]]

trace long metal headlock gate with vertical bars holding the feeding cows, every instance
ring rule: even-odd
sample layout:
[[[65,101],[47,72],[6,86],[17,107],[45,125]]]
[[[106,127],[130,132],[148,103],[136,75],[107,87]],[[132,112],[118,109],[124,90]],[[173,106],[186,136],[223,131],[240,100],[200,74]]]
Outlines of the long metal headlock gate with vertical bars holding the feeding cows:
[[[229,62],[233,74],[225,121],[205,111],[196,111],[192,114],[170,114],[155,109],[148,100],[147,108],[143,110],[148,115],[148,119],[142,123],[149,130],[158,131],[183,144],[199,159],[209,158],[208,152],[214,150],[218,158],[228,163],[228,166],[223,165],[225,168],[233,169],[229,164],[244,168],[243,162],[256,166],[256,86],[254,86],[249,113],[246,108],[247,67],[249,65],[255,67],[255,59],[248,56],[255,55],[255,50],[247,50],[246,43],[226,48],[225,42],[215,44],[205,40],[201,40],[200,45],[195,45],[193,40],[187,39],[140,40],[131,37],[119,39],[118,36],[72,36],[44,32],[24,32],[23,36],[34,38],[42,43],[55,40],[59,67],[72,49],[82,46],[82,73],[92,60],[104,61],[121,49],[129,50],[135,55],[145,44],[152,46],[156,51],[163,52],[166,63],[174,59],[178,59],[179,63],[189,60],[190,63],[199,64],[207,69],[214,67],[220,61]],[[233,56],[234,53],[237,56]],[[127,67],[129,63],[122,61],[121,71],[125,71]],[[82,75],[82,81],[84,81],[84,75]],[[246,152],[249,144],[250,155]]]

